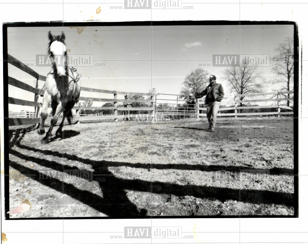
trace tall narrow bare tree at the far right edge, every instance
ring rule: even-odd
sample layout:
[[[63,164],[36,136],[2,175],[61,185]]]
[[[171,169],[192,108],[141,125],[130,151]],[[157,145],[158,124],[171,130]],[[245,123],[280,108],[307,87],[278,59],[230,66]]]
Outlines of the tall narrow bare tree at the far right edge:
[[[280,91],[291,91],[294,88],[294,41],[292,37],[287,37],[285,42],[280,43],[276,48],[276,55],[272,61],[277,62],[272,70],[278,75],[278,78],[272,81],[273,84],[281,86]],[[288,93],[287,97],[290,97]],[[290,101],[287,101],[288,107]]]

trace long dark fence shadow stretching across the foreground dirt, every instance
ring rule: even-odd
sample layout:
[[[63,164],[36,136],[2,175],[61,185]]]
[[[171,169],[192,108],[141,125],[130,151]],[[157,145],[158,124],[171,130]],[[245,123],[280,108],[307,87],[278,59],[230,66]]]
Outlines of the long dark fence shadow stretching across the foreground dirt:
[[[183,170],[201,170],[201,171],[238,171],[239,167],[233,166],[206,166],[206,165],[187,165],[187,164],[141,164],[141,163],[126,163],[126,162],[114,162],[114,161],[96,161],[91,159],[83,159],[76,155],[70,155],[67,153],[61,153],[51,150],[42,150],[37,148],[31,148],[26,145],[20,144],[22,137],[29,129],[24,129],[20,138],[15,140],[14,145],[21,149],[26,149],[32,152],[40,152],[46,155],[64,157],[68,160],[76,160],[81,163],[88,164],[94,170],[93,175],[100,175],[106,178],[105,182],[99,182],[99,186],[103,192],[103,198],[91,193],[90,191],[80,190],[77,187],[63,182],[59,179],[44,180],[39,178],[42,173],[34,169],[22,166],[17,162],[10,160],[10,166],[20,171],[24,175],[30,175],[28,177],[36,180],[37,182],[50,187],[56,191],[67,194],[68,196],[87,204],[88,206],[100,211],[110,217],[114,218],[132,218],[138,216],[145,216],[147,210],[138,210],[136,205],[133,204],[127,197],[125,190],[132,191],[145,191],[155,194],[172,194],[178,197],[191,195],[196,198],[217,199],[219,201],[236,200],[248,203],[275,203],[286,206],[294,206],[294,194],[274,192],[266,190],[241,190],[230,189],[224,187],[204,187],[193,185],[178,185],[171,183],[164,183],[153,181],[144,181],[140,179],[128,180],[117,178],[108,167],[115,166],[127,166],[135,168],[155,168],[155,169],[183,169]],[[70,134],[70,133],[69,133]],[[73,133],[74,134],[74,133]],[[10,154],[15,155],[18,158],[32,161],[44,167],[49,167],[56,171],[63,172],[63,165],[52,160],[41,159],[34,156],[24,155],[14,149],[10,149]],[[78,167],[65,166],[68,170],[79,170]],[[241,169],[253,169],[251,167],[241,167]],[[262,169],[261,169],[262,170]],[[284,172],[285,174],[293,174],[293,170],[275,168],[274,173]],[[31,176],[32,175],[32,176]],[[156,186],[156,187],[152,187]],[[150,203],[147,203],[150,204]]]

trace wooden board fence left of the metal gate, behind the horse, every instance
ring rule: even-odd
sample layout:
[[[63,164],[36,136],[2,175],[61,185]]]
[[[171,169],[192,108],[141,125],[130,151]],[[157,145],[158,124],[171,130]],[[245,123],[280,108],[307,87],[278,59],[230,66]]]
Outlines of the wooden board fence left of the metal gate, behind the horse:
[[[35,117],[34,118],[20,118],[20,117],[10,117],[9,116],[9,126],[12,125],[25,125],[25,124],[38,124],[40,122],[39,118],[39,109],[42,107],[42,104],[38,102],[38,94],[40,92],[39,87],[39,81],[46,81],[46,76],[42,76],[38,73],[36,73],[33,69],[30,69],[27,65],[23,64],[21,61],[17,60],[16,58],[12,57],[8,54],[8,63],[11,65],[16,66],[17,68],[23,70],[24,72],[30,74],[34,78],[36,78],[36,85],[35,87],[32,87],[22,81],[19,81],[15,78],[8,77],[8,84],[12,85],[14,87],[18,87],[20,89],[23,89],[28,92],[34,93],[34,101],[28,101],[28,100],[21,100],[14,97],[8,97],[8,103],[9,104],[16,104],[16,105],[23,105],[23,106],[30,106],[35,108]],[[110,102],[113,104],[113,106],[110,107],[83,107],[79,105],[75,106],[74,109],[76,109],[76,117],[79,121],[101,121],[104,119],[114,119],[117,121],[120,118],[128,118],[128,117],[137,117],[138,119],[149,119],[151,120],[154,117],[154,100],[153,96],[151,96],[151,93],[140,93],[140,92],[117,92],[117,91],[110,91],[110,90],[102,90],[102,89],[94,89],[94,88],[88,88],[88,87],[81,87],[81,91],[85,92],[99,92],[99,93],[107,93],[107,94],[113,94],[112,99],[108,98],[97,98],[97,97],[79,97],[79,100],[92,100],[96,102]],[[43,96],[44,91],[40,92],[40,96]],[[150,99],[118,99],[118,95],[141,95],[141,96],[149,96]],[[123,107],[121,104],[123,102],[127,103],[137,103],[137,104],[144,104],[144,107]],[[79,111],[82,110],[113,110],[112,115],[103,115],[103,116],[79,116]],[[130,114],[130,115],[122,115],[118,111],[139,111],[138,114]],[[140,111],[144,111],[144,113],[140,114]],[[147,113],[145,111],[148,111]]]

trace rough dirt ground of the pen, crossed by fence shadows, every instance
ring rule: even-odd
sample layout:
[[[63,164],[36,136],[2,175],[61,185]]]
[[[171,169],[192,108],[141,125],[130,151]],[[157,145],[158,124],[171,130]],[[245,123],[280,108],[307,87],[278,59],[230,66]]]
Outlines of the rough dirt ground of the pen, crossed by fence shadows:
[[[10,128],[10,210],[31,204],[10,218],[294,215],[293,118],[207,128],[204,119],[74,124],[47,145],[33,127]]]

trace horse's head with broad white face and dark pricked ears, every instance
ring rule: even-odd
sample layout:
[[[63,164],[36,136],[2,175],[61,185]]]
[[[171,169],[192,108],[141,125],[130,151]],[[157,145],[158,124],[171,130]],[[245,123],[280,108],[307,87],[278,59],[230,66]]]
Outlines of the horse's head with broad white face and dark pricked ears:
[[[62,32],[59,36],[53,36],[51,32],[48,32],[49,45],[48,45],[48,53],[53,62],[53,68],[55,73],[58,74],[59,77],[63,77],[67,75],[67,49],[64,43],[65,36]]]

